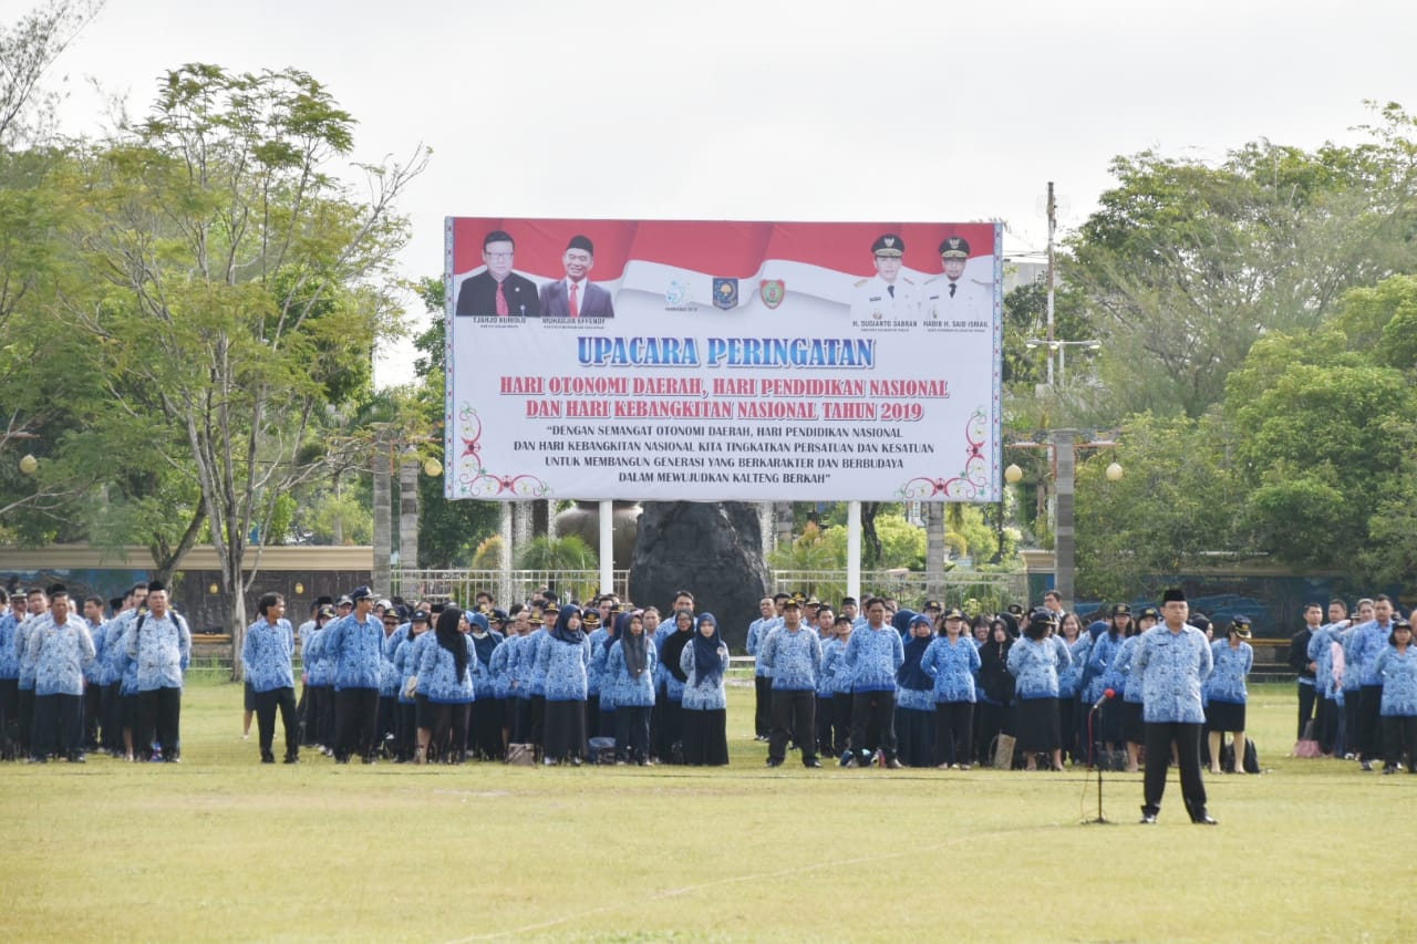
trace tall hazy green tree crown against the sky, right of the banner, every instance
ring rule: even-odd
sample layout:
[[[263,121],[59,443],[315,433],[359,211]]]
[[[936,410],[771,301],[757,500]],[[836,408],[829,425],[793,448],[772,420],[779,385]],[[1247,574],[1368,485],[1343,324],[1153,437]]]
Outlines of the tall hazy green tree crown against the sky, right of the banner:
[[[1105,342],[1114,415],[1200,417],[1258,337],[1314,330],[1346,289],[1417,265],[1413,119],[1389,105],[1366,130],[1314,152],[1254,142],[1219,166],[1112,162],[1064,268]]]

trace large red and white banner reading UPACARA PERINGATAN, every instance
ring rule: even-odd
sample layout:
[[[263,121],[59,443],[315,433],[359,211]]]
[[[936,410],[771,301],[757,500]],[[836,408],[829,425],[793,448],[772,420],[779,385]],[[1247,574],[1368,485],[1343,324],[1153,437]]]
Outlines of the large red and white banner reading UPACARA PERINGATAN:
[[[1000,235],[448,218],[446,495],[998,502]]]

